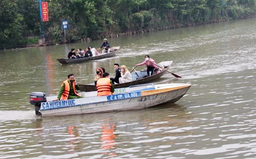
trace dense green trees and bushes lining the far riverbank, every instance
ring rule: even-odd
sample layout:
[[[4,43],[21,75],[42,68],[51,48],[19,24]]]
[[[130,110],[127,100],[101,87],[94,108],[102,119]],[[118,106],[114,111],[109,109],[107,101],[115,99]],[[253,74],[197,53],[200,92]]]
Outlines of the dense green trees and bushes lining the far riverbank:
[[[64,43],[61,20],[69,20],[67,42],[162,26],[188,26],[256,15],[256,0],[44,0],[46,41]],[[0,49],[22,47],[40,35],[36,0],[1,0]]]

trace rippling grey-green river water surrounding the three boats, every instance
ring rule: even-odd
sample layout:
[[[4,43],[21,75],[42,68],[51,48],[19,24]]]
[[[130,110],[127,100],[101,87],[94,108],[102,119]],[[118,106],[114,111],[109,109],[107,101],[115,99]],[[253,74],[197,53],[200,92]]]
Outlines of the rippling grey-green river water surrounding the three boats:
[[[117,56],[69,65],[56,59],[102,41],[0,51],[0,159],[255,158],[255,30],[246,19],[113,38]],[[146,54],[182,77],[155,83],[193,84],[176,103],[65,117],[37,117],[29,103],[33,91],[56,95],[69,73],[92,83],[96,67],[114,76],[114,63],[131,70]]]

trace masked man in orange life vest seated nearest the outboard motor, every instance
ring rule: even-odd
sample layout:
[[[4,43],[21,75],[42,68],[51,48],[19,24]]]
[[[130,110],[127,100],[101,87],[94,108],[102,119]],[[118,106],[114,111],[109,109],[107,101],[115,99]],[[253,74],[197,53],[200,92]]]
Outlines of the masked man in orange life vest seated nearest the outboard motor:
[[[77,99],[83,98],[75,90],[80,90],[80,87],[76,83],[74,74],[67,75],[67,80],[63,81],[59,90],[58,100]]]

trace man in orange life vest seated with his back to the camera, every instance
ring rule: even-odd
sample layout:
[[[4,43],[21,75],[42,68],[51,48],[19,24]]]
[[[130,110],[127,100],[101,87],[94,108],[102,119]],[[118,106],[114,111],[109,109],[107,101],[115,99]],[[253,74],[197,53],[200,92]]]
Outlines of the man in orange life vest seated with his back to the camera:
[[[112,95],[115,91],[112,81],[109,78],[109,73],[105,72],[102,78],[97,81],[97,96]]]

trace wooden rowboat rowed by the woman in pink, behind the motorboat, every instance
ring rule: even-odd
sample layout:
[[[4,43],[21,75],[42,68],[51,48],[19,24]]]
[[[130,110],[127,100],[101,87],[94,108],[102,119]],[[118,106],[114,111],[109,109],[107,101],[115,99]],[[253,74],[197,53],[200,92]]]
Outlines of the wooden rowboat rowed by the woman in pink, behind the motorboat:
[[[160,62],[158,65],[168,69],[170,67],[170,65],[172,64],[172,61],[162,61]],[[137,79],[138,77],[143,77],[145,75],[147,75],[147,71],[146,69],[141,70],[141,71],[136,71],[136,72],[132,72],[132,81],[131,82],[126,82],[126,83],[121,83],[121,84],[114,84],[114,88],[123,88],[123,87],[129,87],[132,85],[139,85],[139,84],[144,84],[144,83],[151,83],[153,80],[156,80],[158,78],[160,78],[161,76],[163,76],[163,74],[165,73],[165,70],[162,70],[160,72],[154,72],[154,74],[152,76],[148,76],[145,78],[141,78],[141,79]],[[90,91],[96,91],[96,86],[94,83],[91,84],[87,84],[87,85],[79,85],[80,87],[80,91],[85,91],[85,92],[90,92]]]

